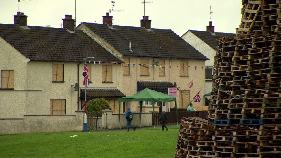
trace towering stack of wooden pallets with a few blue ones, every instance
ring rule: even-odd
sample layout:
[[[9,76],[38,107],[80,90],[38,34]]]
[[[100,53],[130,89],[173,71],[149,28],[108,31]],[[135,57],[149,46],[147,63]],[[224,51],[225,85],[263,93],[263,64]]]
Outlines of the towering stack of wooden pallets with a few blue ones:
[[[281,156],[281,0],[242,0],[214,58],[208,121],[183,118],[176,157]]]

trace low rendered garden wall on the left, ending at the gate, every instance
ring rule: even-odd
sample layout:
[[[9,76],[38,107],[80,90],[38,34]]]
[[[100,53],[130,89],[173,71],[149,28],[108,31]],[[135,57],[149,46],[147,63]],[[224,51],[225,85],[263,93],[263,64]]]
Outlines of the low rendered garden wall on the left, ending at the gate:
[[[82,131],[84,111],[74,115],[23,115],[18,119],[0,118],[0,134]]]

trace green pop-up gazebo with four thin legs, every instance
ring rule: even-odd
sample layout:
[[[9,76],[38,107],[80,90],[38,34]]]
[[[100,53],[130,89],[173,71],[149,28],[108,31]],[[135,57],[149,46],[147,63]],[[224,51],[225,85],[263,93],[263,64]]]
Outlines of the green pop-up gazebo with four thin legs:
[[[149,101],[152,102],[152,109],[153,109],[153,123],[155,125],[155,114],[154,114],[154,104],[155,102],[175,102],[176,105],[176,97],[170,96],[161,92],[157,92],[155,90],[151,90],[148,88],[145,88],[144,90],[132,95],[132,96],[126,96],[123,98],[119,98],[119,124],[121,128],[121,102],[132,102],[132,101],[138,101],[140,102],[140,126],[141,126],[141,113],[142,113],[142,106],[143,101]],[[178,109],[176,106],[176,123],[178,124]]]

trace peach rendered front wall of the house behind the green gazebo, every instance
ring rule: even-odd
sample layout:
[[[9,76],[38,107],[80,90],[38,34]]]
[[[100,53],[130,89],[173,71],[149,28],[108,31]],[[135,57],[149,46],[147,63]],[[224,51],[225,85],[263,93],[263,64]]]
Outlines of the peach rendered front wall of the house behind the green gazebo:
[[[183,77],[180,76],[180,59],[165,59],[165,65],[174,65],[169,68],[167,66],[167,69],[165,69],[165,75],[159,76],[159,66],[156,67],[149,67],[149,75],[144,76],[140,75],[140,58],[138,57],[124,57],[124,58],[130,58],[130,63],[135,63],[135,67],[130,66],[130,75],[123,75],[124,81],[123,81],[123,93],[126,96],[133,95],[137,93],[137,81],[170,81],[174,84],[176,82],[177,87],[179,87],[179,90],[190,90],[189,87],[187,87],[188,83],[197,75],[197,77],[193,80],[193,88],[190,90],[190,101],[191,99],[197,94],[197,92],[203,88],[200,92],[201,98],[203,98],[203,95],[205,94],[205,61],[204,60],[186,60],[188,61],[188,66],[191,66],[188,68],[188,76]],[[153,64],[153,60],[161,59],[161,58],[147,58],[149,59],[149,64]],[[184,60],[184,59],[183,59]],[[176,66],[179,66],[178,68]],[[197,66],[196,70],[195,67]],[[203,70],[201,68],[203,66]],[[163,67],[165,68],[165,67]],[[178,93],[179,93],[178,90]],[[179,106],[179,97],[177,97],[177,102]],[[193,103],[194,106],[202,106],[203,102],[195,102]],[[174,108],[175,104],[174,102],[170,103],[170,108]],[[187,106],[187,105],[185,105]],[[138,102],[126,102],[126,107],[130,107],[132,111],[134,112],[140,112]],[[167,104],[168,108],[168,104]],[[152,107],[145,107],[143,108],[143,112],[149,112],[152,111]],[[155,111],[158,111],[158,108],[155,108]]]

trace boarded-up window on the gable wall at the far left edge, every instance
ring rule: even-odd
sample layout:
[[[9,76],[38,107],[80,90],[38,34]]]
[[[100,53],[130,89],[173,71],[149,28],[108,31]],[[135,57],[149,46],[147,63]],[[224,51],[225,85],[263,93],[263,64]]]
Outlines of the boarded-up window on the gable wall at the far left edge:
[[[14,89],[14,70],[1,70],[1,89]]]

